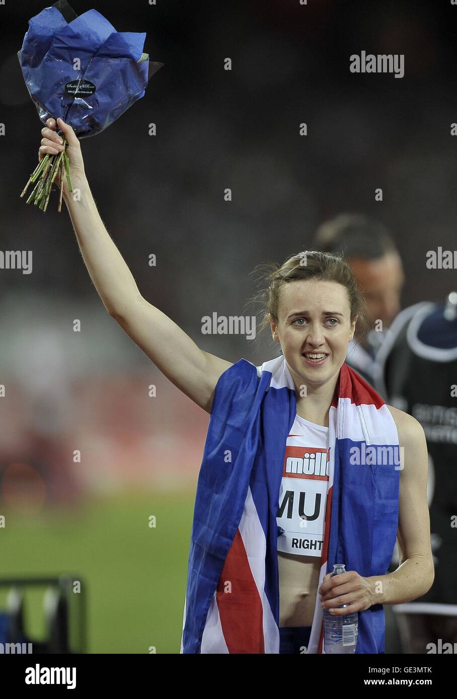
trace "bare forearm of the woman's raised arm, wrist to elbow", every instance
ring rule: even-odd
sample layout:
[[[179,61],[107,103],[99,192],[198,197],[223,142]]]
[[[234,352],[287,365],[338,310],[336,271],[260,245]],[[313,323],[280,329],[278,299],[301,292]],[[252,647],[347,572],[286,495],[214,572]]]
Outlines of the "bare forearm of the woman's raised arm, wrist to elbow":
[[[85,266],[108,313],[120,312],[139,298],[139,289],[106,231],[87,179],[75,180],[72,187],[64,199]]]

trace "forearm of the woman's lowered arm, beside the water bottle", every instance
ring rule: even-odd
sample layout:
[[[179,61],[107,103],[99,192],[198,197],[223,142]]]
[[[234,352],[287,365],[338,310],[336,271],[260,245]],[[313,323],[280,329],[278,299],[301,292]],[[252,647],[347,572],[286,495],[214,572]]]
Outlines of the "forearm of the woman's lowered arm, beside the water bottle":
[[[412,556],[387,575],[367,577],[372,604],[395,605],[425,595],[433,584],[433,566],[423,556]]]

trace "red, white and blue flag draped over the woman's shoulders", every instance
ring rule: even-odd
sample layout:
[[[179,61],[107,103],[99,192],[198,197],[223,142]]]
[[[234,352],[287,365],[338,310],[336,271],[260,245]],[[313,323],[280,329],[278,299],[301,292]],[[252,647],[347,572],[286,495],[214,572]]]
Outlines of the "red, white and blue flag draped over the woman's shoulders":
[[[295,387],[281,355],[240,359],[213,397],[190,537],[181,653],[279,653],[276,517]],[[321,575],[344,563],[385,575],[398,528],[400,458],[391,412],[342,365],[329,415]],[[328,516],[330,513],[330,517]],[[384,608],[358,612],[356,653],[384,653]],[[323,653],[316,596],[308,653]]]

